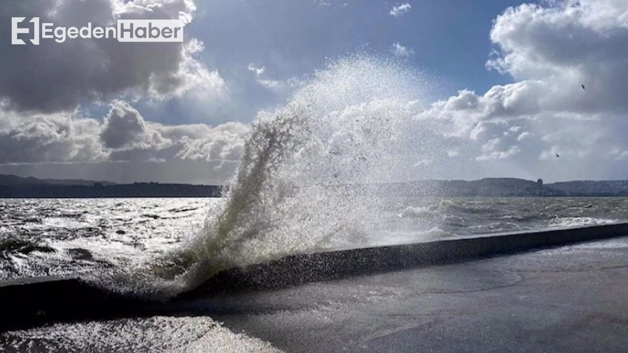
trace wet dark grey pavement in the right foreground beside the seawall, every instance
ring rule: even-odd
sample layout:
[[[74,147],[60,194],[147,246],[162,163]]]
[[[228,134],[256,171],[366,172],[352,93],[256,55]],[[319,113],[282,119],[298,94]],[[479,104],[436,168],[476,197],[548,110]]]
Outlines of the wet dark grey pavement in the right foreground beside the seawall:
[[[198,301],[290,352],[625,352],[628,237]]]

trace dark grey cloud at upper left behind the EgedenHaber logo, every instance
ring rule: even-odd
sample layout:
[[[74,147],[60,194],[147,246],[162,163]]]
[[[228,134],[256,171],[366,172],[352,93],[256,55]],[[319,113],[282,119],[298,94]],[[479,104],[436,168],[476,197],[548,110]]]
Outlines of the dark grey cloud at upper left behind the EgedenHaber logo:
[[[32,17],[41,23],[81,28],[114,26],[117,19],[171,19],[178,11],[193,14],[192,0],[29,0],[8,1],[0,8],[0,23],[11,17]],[[16,111],[72,111],[78,104],[107,102],[133,95],[153,100],[203,92],[224,94],[225,83],[196,56],[198,40],[186,43],[119,43],[116,39],[74,39],[40,45],[11,46],[11,31],[0,31],[0,99]]]

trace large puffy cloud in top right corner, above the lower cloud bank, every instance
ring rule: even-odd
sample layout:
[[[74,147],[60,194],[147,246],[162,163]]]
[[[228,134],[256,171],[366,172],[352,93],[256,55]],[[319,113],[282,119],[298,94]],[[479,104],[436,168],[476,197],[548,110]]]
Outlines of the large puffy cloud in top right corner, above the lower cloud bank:
[[[490,32],[501,50],[487,67],[517,80],[540,80],[543,87],[532,87],[531,93],[543,109],[623,111],[628,107],[621,92],[628,79],[627,8],[624,1],[612,0],[509,8]]]

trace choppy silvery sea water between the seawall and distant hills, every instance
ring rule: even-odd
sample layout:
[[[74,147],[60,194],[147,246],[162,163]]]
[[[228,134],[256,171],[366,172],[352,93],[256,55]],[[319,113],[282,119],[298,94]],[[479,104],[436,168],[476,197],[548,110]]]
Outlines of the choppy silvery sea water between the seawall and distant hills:
[[[97,276],[149,263],[185,246],[215,198],[0,200],[0,279]],[[389,198],[354,243],[310,251],[426,241],[443,236],[607,224],[628,220],[628,198]],[[304,234],[292,234],[298,241]],[[276,248],[278,255],[290,249]],[[268,251],[267,249],[265,251]],[[271,254],[272,255],[272,254]]]

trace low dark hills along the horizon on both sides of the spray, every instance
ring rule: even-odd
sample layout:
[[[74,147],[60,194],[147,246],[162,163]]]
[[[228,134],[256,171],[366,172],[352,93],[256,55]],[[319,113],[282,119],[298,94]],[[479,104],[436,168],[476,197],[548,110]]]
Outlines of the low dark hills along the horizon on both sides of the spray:
[[[544,184],[540,179],[534,182],[517,178],[418,180],[381,184],[376,189],[382,195],[415,197],[628,197],[628,180],[585,180],[549,184]],[[0,198],[220,197],[223,190],[224,187],[216,185],[116,184],[0,175]]]

